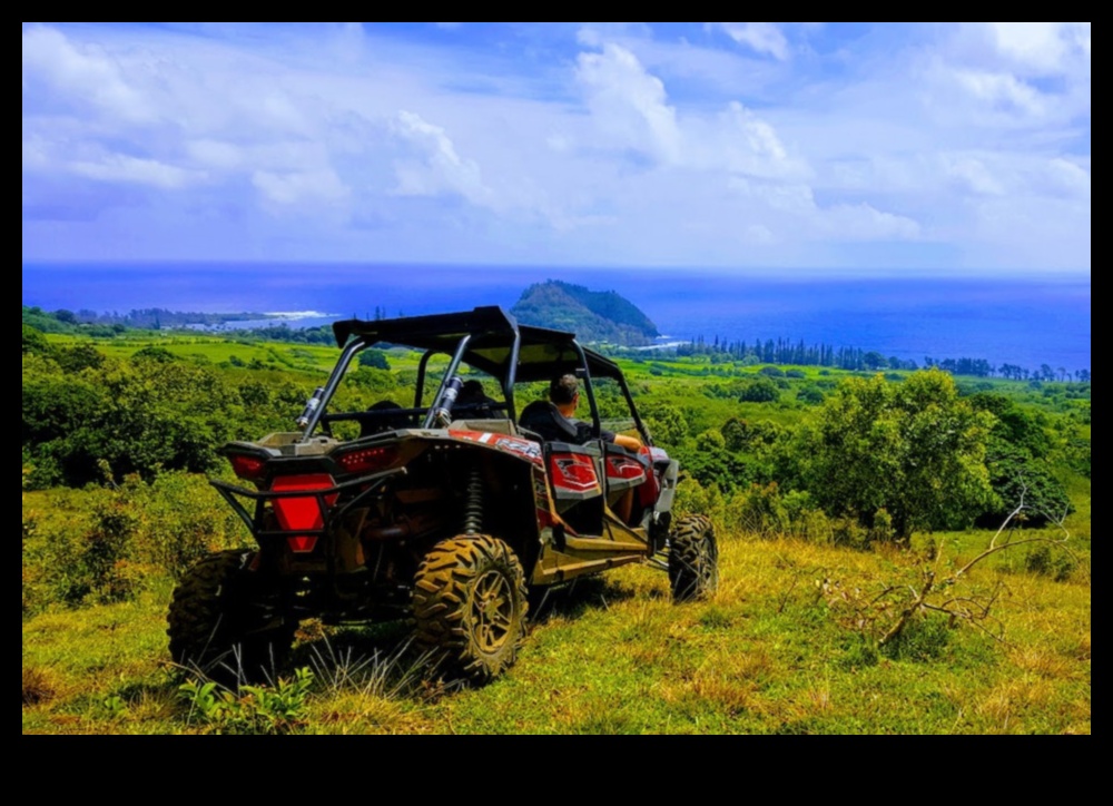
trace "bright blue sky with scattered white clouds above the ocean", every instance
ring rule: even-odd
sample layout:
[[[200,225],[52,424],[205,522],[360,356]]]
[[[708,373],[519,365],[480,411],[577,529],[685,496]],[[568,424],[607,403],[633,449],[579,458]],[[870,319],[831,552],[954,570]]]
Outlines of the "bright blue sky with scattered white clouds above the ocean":
[[[1090,272],[1090,23],[22,39],[24,262]]]

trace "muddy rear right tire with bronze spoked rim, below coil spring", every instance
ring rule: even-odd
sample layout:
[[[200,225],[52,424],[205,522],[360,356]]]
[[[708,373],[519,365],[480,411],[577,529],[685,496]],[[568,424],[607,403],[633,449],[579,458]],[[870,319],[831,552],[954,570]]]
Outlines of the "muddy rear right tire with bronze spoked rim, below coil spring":
[[[417,648],[473,684],[514,664],[528,611],[522,563],[506,543],[485,534],[441,541],[414,578]]]

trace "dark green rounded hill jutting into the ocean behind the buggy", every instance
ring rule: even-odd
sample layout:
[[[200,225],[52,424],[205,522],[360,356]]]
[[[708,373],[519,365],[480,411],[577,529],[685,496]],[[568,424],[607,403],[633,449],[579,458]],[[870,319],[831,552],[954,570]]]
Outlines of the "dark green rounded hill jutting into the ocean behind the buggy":
[[[617,292],[558,279],[531,285],[510,312],[522,324],[571,331],[584,342],[640,346],[660,335],[657,325]]]

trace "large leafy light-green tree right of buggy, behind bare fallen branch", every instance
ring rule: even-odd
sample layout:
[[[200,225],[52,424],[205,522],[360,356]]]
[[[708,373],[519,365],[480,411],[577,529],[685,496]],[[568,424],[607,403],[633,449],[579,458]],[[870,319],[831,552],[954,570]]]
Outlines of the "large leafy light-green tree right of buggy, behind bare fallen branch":
[[[963,528],[993,502],[985,466],[993,422],[938,370],[900,384],[849,379],[797,432],[800,483],[828,513],[865,525],[886,510],[900,538]]]

